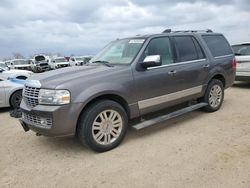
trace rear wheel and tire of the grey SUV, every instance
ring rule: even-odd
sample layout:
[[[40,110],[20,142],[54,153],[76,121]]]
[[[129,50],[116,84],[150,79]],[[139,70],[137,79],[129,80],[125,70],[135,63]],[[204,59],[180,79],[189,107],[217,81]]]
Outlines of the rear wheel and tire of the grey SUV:
[[[205,95],[201,102],[208,103],[203,109],[207,112],[215,112],[220,109],[224,100],[224,86],[220,80],[213,79],[209,82]]]

